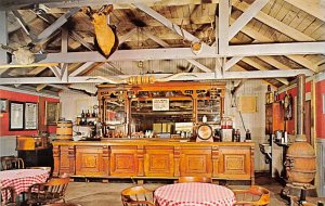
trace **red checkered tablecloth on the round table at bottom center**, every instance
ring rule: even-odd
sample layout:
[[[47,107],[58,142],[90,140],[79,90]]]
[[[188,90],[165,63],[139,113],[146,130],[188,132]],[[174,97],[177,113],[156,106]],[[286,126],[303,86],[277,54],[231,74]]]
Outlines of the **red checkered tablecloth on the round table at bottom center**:
[[[227,188],[198,182],[165,185],[154,196],[159,206],[232,206],[236,201]]]

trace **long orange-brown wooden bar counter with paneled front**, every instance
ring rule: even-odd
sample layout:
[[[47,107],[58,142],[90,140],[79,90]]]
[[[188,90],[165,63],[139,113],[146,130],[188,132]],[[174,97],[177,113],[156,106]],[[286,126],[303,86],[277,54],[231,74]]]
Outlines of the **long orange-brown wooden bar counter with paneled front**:
[[[250,180],[252,142],[180,142],[160,139],[54,141],[54,176],[170,178],[206,176]]]

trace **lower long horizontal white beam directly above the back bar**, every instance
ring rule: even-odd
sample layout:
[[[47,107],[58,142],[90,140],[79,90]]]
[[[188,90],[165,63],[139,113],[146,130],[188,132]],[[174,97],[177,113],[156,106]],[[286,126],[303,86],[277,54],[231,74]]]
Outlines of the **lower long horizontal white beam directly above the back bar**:
[[[182,73],[182,74],[151,74],[155,79],[172,78],[172,80],[226,80],[226,79],[264,79],[264,78],[286,78],[296,77],[299,74],[311,76],[313,73],[308,69],[291,69],[291,70],[250,70],[250,72],[225,72],[223,76],[216,77],[214,73]],[[78,83],[78,82],[120,82],[129,78],[131,75],[119,76],[78,76],[68,77],[68,79],[58,79],[56,77],[26,77],[26,78],[0,78],[0,85],[15,85],[15,83]],[[118,80],[120,79],[120,80]],[[109,80],[110,81],[110,80]]]

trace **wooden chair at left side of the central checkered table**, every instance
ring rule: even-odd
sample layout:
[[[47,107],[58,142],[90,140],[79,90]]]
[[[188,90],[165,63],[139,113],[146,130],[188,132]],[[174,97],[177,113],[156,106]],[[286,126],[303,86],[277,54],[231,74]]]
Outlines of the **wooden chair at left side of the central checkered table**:
[[[142,185],[131,186],[121,191],[123,206],[155,206],[154,193]]]

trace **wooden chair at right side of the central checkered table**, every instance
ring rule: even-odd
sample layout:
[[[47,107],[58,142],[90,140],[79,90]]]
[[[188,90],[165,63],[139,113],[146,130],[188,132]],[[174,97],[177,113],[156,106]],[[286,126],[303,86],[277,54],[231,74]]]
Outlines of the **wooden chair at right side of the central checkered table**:
[[[233,190],[236,196],[234,205],[269,205],[271,199],[270,191],[265,188],[252,185],[248,190]]]

